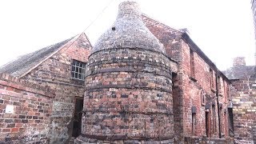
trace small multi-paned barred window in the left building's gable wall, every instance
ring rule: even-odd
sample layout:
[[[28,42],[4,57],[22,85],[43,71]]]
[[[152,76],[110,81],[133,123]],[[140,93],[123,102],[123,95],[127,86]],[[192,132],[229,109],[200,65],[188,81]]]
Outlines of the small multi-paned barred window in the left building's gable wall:
[[[86,63],[79,62],[77,60],[73,60],[71,78],[84,81],[85,80],[85,72],[86,72]]]

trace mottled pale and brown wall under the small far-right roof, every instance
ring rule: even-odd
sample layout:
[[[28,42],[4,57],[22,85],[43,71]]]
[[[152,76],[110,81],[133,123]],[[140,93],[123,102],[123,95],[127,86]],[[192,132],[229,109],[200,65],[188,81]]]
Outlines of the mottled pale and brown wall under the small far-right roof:
[[[256,143],[256,77],[232,82],[235,143]]]

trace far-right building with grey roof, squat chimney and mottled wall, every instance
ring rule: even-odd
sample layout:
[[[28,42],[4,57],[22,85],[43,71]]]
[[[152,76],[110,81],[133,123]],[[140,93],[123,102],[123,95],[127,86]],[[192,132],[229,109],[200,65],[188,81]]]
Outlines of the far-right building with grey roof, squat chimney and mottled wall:
[[[234,142],[256,143],[256,66],[246,66],[245,58],[234,58],[224,72],[232,83]]]

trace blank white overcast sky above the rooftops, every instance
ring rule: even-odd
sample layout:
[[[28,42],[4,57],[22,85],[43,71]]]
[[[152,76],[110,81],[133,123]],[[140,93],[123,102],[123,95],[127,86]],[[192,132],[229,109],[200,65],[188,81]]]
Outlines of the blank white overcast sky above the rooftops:
[[[84,30],[94,44],[114,22],[120,2],[1,1],[0,66],[19,55],[71,38]],[[176,29],[190,30],[190,37],[220,70],[232,66],[233,58],[238,56],[245,56],[246,64],[254,65],[254,26],[250,0],[137,2],[142,12],[150,18]]]

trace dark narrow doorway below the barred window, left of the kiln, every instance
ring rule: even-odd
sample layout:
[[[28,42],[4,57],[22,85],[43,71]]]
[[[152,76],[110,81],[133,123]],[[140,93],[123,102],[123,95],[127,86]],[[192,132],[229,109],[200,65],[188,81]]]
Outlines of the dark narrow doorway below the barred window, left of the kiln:
[[[74,125],[73,125],[73,133],[72,133],[72,136],[74,138],[77,138],[81,134],[82,107],[83,107],[83,98],[75,98]]]

